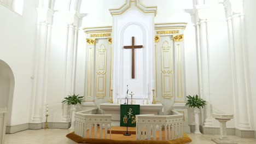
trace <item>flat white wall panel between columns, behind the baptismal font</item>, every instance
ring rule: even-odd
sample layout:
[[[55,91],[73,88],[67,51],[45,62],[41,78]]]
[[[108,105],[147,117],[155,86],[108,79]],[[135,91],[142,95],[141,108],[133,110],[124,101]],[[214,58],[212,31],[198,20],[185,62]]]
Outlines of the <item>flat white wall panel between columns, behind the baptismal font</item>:
[[[207,22],[207,28],[212,112],[234,113],[227,23]],[[212,121],[214,127],[219,125],[216,119],[212,118]],[[234,119],[227,123],[227,127],[235,127]]]

